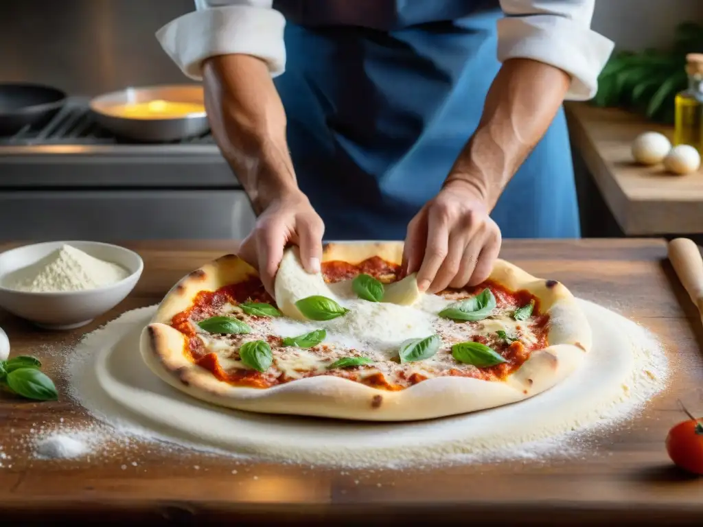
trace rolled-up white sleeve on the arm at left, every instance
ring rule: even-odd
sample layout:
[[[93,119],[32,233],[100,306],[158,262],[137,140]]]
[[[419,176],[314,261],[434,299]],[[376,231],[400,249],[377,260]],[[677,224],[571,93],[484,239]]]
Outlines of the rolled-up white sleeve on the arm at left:
[[[191,79],[202,79],[203,60],[233,53],[264,60],[276,77],[285,70],[284,28],[272,0],[195,0],[195,11],[169,22],[156,38]]]

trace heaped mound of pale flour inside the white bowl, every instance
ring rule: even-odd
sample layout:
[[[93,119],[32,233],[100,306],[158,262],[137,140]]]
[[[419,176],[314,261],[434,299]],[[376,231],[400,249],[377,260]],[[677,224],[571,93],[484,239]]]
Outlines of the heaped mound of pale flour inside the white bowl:
[[[19,291],[58,292],[96,289],[127,276],[129,271],[116,263],[63,245],[31,266],[10,273],[4,281],[6,287]]]

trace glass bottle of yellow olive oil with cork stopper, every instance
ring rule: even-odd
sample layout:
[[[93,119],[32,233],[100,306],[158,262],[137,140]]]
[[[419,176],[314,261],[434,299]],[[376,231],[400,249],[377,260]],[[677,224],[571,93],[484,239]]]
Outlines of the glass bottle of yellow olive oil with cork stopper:
[[[676,94],[674,145],[691,145],[703,154],[703,53],[686,56],[688,89]]]

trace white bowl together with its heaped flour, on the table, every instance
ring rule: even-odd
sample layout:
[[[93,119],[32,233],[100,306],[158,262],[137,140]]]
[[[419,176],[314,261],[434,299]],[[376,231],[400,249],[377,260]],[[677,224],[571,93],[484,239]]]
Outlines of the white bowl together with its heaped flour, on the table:
[[[101,242],[44,242],[0,254],[0,307],[52,330],[91,323],[134,289],[134,251]]]

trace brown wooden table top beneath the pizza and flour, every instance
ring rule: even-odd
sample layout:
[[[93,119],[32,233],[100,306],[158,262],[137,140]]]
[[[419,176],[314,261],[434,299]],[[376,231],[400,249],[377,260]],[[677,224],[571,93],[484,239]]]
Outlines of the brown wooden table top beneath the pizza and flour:
[[[75,341],[81,334],[139,306],[155,304],[182,275],[227,252],[231,242],[140,242],[145,262],[141,282],[120,306],[89,327],[46,332],[9,315],[0,325],[13,353]],[[0,247],[5,249],[6,247]],[[69,403],[0,402],[0,445],[11,454],[0,469],[0,521],[72,519],[93,515],[115,524],[230,525],[264,519],[277,525],[337,525],[359,521],[389,525],[422,519],[459,525],[637,521],[639,524],[697,524],[703,521],[703,478],[683,474],[664,450],[669,428],[683,419],[681,398],[703,414],[703,330],[676,280],[659,240],[508,240],[502,256],[535,275],[561,280],[579,297],[598,301],[642,323],[659,336],[672,360],[670,388],[640,417],[605,434],[582,459],[500,462],[432,471],[340,471],[233,465],[197,454],[168,457],[142,452],[114,462],[42,462],[15,454],[18,436],[43,422],[82,419]],[[45,346],[44,346],[45,347]],[[51,370],[51,356],[42,356]],[[199,469],[195,469],[198,465]],[[237,474],[232,474],[237,469]],[[124,522],[124,523],[123,523]],[[23,525],[26,523],[22,523]],[[46,525],[46,523],[44,523]],[[262,523],[256,523],[261,525]]]

